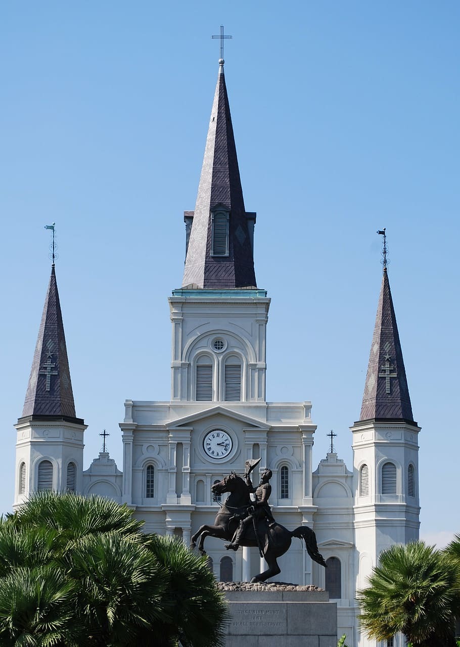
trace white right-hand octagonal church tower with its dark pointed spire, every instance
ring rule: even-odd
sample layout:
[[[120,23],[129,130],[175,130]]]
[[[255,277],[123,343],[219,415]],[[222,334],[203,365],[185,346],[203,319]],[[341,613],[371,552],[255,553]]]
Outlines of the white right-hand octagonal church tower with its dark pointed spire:
[[[413,420],[386,261],[361,415],[351,431],[360,589],[384,549],[419,538],[420,427]],[[357,644],[375,641],[358,635]]]

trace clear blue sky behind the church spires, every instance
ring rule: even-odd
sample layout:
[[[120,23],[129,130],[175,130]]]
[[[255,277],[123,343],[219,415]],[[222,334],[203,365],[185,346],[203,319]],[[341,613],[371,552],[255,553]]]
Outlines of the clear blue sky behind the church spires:
[[[0,6],[3,488],[56,273],[86,465],[126,398],[170,397],[181,285],[219,45],[256,276],[272,297],[269,400],[312,400],[351,467],[380,288],[377,229],[415,419],[422,535],[458,532],[459,63],[456,1],[13,2]],[[446,534],[443,534],[446,533]],[[434,539],[433,539],[434,540]]]

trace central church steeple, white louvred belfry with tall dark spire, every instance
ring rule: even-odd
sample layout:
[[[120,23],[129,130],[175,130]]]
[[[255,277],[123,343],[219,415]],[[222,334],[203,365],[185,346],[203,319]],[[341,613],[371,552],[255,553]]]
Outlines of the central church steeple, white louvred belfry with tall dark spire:
[[[184,221],[184,278],[169,300],[171,400],[264,402],[270,299],[256,286],[256,214],[243,201],[223,59],[195,211]]]

